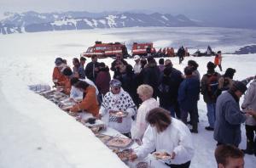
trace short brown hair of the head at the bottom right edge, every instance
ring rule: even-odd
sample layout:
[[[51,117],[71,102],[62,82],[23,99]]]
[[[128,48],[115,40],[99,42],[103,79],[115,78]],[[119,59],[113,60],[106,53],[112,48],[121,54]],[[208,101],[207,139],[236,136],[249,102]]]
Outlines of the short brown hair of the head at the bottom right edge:
[[[238,159],[243,158],[244,154],[241,151],[241,149],[236,148],[233,145],[227,144],[227,145],[218,145],[218,147],[215,149],[215,160],[217,164],[222,165],[228,165],[228,159]]]

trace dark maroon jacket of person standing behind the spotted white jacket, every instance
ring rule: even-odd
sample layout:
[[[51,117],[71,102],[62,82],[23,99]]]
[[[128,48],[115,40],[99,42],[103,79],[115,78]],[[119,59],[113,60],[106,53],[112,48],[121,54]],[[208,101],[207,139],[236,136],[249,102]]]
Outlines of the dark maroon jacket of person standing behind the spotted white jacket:
[[[109,92],[109,81],[111,80],[108,67],[99,70],[96,76],[96,87],[99,92],[105,95]]]

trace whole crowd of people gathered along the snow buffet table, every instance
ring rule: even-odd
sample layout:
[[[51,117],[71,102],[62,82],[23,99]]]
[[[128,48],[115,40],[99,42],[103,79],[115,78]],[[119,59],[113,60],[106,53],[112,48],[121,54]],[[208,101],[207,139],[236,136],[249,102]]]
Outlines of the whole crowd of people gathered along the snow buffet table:
[[[184,55],[185,49],[182,50],[178,54]],[[218,61],[207,63],[207,72],[202,77],[195,60],[189,60],[183,72],[173,67],[171,59],[159,59],[157,64],[152,56],[135,56],[135,63],[131,65],[117,55],[110,69],[98,62],[96,55],[85,66],[86,60],[74,58],[71,68],[65,59],[56,58],[52,78],[55,87],[63,87],[63,92],[74,101],[76,97],[83,97],[82,102],[70,109],[73,113],[89,113],[98,119],[106,117],[108,126],[126,137],[140,140],[142,145],[130,160],[154,150],[165,150],[172,158],[172,163],[166,165],[189,167],[195,153],[191,133],[199,133],[200,94],[207,104],[209,126],[205,129],[213,132],[218,145],[215,153],[218,167],[226,164],[219,151],[228,145],[236,151],[241,143],[243,122],[246,122],[247,148],[237,153],[241,158],[242,154],[256,156],[255,77],[234,81],[236,70],[233,68],[220,75],[215,68],[218,65],[222,70],[221,52],[218,52]],[[183,58],[179,60],[181,63]],[[113,78],[109,70],[113,70]],[[247,89],[250,81],[253,82]],[[244,93],[240,109],[239,100]],[[127,115],[112,115],[118,111],[125,111]],[[192,129],[189,130],[188,125]]]

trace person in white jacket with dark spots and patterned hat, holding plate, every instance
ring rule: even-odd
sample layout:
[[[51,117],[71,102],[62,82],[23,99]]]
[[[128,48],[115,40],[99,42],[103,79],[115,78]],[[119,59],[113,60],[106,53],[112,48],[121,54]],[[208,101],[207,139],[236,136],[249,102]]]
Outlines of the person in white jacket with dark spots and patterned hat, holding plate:
[[[113,79],[109,82],[109,85],[110,92],[107,92],[103,98],[99,117],[108,116],[108,126],[126,137],[131,137],[131,116],[136,115],[137,107],[128,92],[123,90],[119,80]],[[127,115],[114,115],[119,111],[126,112]]]

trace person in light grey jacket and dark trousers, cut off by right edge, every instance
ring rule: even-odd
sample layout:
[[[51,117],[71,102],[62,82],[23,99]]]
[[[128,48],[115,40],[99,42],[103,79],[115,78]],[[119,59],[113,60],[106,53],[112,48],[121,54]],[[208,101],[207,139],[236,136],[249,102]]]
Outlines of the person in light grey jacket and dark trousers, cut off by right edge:
[[[241,109],[256,110],[256,79],[248,87],[247,93],[244,96],[244,101],[241,104]],[[243,150],[245,154],[256,154],[256,118],[253,115],[248,115],[246,120],[246,135],[247,135],[247,148]]]

